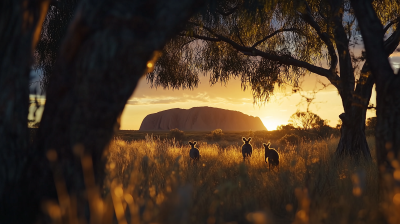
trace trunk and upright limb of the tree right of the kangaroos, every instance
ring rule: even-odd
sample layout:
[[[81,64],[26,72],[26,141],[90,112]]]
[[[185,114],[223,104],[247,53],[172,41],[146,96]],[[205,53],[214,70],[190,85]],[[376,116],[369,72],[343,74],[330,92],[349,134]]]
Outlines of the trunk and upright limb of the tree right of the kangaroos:
[[[355,76],[349,50],[349,39],[342,21],[344,4],[343,1],[332,1],[331,5],[334,14],[334,38],[340,64],[341,85],[338,90],[344,108],[344,113],[339,116],[342,120],[342,127],[336,155],[350,156],[357,160],[363,156],[370,160],[371,153],[365,137],[365,118],[373,83],[364,85],[364,88],[369,91],[361,92],[358,96],[355,95]],[[363,84],[359,82],[357,87]]]

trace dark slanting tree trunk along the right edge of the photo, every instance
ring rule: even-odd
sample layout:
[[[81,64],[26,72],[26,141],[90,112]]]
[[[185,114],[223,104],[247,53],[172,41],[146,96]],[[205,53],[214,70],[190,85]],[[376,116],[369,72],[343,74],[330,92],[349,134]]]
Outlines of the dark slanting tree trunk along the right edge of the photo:
[[[394,74],[383,42],[383,26],[370,1],[352,0],[367,62],[376,76],[377,127],[376,150],[383,213],[388,223],[399,223],[394,195],[400,194],[400,77]],[[395,202],[395,203],[393,203]],[[397,207],[398,209],[398,207]]]

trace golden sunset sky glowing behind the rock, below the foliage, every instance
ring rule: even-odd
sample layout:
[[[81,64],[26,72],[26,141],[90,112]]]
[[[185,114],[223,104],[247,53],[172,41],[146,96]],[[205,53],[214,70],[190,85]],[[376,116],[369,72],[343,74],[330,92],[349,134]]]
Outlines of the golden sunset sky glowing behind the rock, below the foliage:
[[[391,56],[394,68],[400,64],[400,54]],[[315,74],[303,78],[302,88],[311,96],[313,90],[321,88],[317,80],[328,83],[327,79]],[[375,104],[375,90],[371,102]],[[268,102],[253,104],[250,90],[241,89],[240,80],[232,79],[226,85],[218,83],[210,86],[208,76],[202,76],[200,84],[193,90],[172,90],[150,88],[150,84],[143,77],[131,99],[125,106],[121,117],[121,130],[138,130],[146,115],[172,108],[189,109],[192,107],[217,107],[227,110],[236,110],[244,114],[260,117],[268,130],[275,130],[277,126],[287,124],[290,116],[297,110],[305,111],[306,104],[301,103],[300,94],[291,94],[291,88],[276,88],[275,94]],[[375,104],[376,105],[376,104]],[[329,120],[329,125],[336,126],[339,114],[343,113],[342,102],[337,90],[333,86],[319,91],[314,103],[310,106],[313,113]],[[376,116],[374,110],[368,110],[367,117]]]

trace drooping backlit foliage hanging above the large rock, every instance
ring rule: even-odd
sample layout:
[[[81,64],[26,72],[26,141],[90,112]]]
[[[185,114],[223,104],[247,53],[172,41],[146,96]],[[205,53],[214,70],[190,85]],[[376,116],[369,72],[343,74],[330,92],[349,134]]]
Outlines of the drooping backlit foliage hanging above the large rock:
[[[276,31],[290,25],[278,21],[278,13],[265,13],[275,3],[269,4],[271,6],[259,1],[221,1],[215,8],[209,7],[206,12],[193,17],[185,31],[164,47],[163,55],[147,79],[164,88],[193,88],[200,74],[210,75],[211,84],[239,78],[242,88],[251,88],[259,101],[269,98],[275,84],[296,84],[304,69],[252,56],[251,51],[241,48],[251,44],[255,49],[265,51],[278,49],[274,54],[281,57],[299,52],[297,57],[310,60],[307,51],[300,49],[310,45],[294,45],[302,39],[294,32],[296,22],[292,22],[293,27],[287,33]],[[268,44],[265,41],[256,44],[274,32]]]

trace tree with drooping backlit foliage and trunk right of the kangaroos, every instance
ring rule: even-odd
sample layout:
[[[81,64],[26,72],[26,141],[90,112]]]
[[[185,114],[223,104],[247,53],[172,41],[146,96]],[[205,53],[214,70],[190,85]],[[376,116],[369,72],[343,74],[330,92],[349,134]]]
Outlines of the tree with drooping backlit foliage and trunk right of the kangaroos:
[[[210,82],[239,77],[256,101],[269,99],[275,85],[307,73],[326,78],[338,91],[344,113],[337,155],[371,158],[365,118],[375,76],[364,63],[357,23],[347,0],[223,1],[192,17],[185,30],[163,50],[152,85],[193,88],[198,75]],[[391,1],[375,4],[386,25],[387,56],[400,42],[400,8]]]

